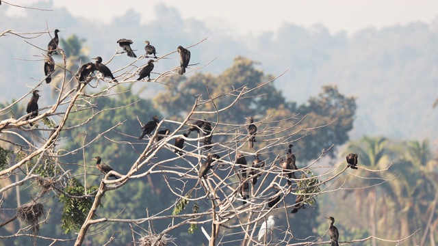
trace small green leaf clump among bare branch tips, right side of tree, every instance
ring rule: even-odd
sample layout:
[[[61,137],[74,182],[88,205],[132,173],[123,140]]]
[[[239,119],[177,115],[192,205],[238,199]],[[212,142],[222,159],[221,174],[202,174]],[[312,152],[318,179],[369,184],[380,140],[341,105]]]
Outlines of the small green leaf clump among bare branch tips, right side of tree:
[[[318,176],[311,171],[307,171],[302,174],[300,181],[298,182],[298,191],[296,193],[302,194],[305,203],[312,205],[316,202],[316,196],[314,194],[320,193],[320,180]]]

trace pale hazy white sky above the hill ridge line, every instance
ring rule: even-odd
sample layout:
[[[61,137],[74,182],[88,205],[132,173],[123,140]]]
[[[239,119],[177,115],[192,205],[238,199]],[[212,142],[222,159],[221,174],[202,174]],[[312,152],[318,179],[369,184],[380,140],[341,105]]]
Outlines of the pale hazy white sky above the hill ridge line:
[[[6,0],[29,5],[37,0]],[[236,33],[260,33],[275,30],[282,23],[311,27],[322,23],[331,33],[354,33],[365,27],[386,27],[421,20],[430,23],[438,15],[438,1],[432,0],[281,0],[281,1],[54,1],[55,7],[65,7],[74,16],[110,22],[130,8],[142,14],[142,21],[157,18],[153,6],[157,3],[175,7],[183,18],[205,20],[210,25],[233,27]],[[14,11],[17,11],[14,8]]]

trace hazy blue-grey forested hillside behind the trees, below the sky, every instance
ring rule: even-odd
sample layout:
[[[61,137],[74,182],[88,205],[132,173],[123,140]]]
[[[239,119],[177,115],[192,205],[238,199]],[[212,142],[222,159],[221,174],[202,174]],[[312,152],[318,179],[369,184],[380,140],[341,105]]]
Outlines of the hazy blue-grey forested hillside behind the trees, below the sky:
[[[53,9],[51,2],[37,5]],[[62,38],[73,33],[85,38],[90,57],[99,55],[104,61],[116,51],[120,38],[133,40],[133,49],[140,55],[144,53],[144,40],[151,41],[158,55],[164,55],[175,51],[178,45],[188,46],[208,37],[191,49],[193,63],[202,65],[218,57],[201,72],[216,74],[229,67],[233,57],[242,55],[261,62],[259,68],[266,73],[275,75],[288,69],[275,84],[289,100],[303,102],[320,92],[325,84],[337,84],[342,93],[357,96],[359,108],[353,138],[361,135],[438,138],[438,110],[431,108],[438,97],[438,19],[434,23],[364,29],[351,37],[345,33],[332,35],[323,25],[306,29],[290,23],[260,36],[242,36],[231,35],[232,27],[223,32],[227,27],[209,29],[198,20],[183,19],[177,10],[166,5],[155,6],[159,20],[152,23],[140,24],[137,10],[129,10],[110,25],[75,18],[65,9],[27,10],[25,18],[11,18],[4,14],[7,8],[7,5],[0,8],[0,31],[44,31],[47,20],[50,29],[62,30]],[[49,40],[44,34],[27,41],[45,47]],[[42,61],[28,61],[23,66],[23,61],[16,60],[42,59],[38,55],[42,51],[22,38],[0,38],[3,100],[18,98],[29,91],[25,86],[36,84],[31,78],[43,78]],[[60,58],[56,58],[59,62]],[[121,66],[129,59],[116,57],[110,66]],[[159,61],[154,72],[164,72],[178,63],[177,57]],[[153,90],[159,90],[159,86],[151,86],[144,96],[151,96]],[[42,98],[42,102],[44,99],[47,100]]]

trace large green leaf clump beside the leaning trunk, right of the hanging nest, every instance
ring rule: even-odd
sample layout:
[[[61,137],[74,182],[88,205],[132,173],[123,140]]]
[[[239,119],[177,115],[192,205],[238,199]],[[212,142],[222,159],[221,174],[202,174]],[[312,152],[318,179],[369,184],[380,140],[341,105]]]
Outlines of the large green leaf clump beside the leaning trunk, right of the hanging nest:
[[[87,194],[97,191],[99,187],[93,185],[87,189]],[[64,190],[68,195],[61,194],[59,197],[60,202],[63,204],[62,207],[62,230],[64,234],[72,230],[80,230],[83,222],[86,220],[93,201],[90,197],[73,198],[70,196],[83,196],[85,194],[85,189],[83,185],[76,178],[71,178],[69,180],[68,187]]]

